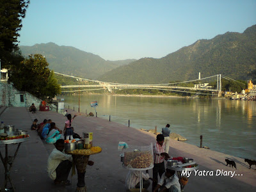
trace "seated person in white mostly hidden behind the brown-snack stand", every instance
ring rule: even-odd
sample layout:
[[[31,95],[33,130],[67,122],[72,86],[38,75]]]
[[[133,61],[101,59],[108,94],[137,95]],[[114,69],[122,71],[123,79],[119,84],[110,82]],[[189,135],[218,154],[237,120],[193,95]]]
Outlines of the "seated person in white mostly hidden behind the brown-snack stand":
[[[148,170],[146,170],[146,174],[141,172],[141,177],[143,179],[143,188],[147,189],[150,186],[150,181],[148,179],[153,180],[149,177]],[[125,180],[125,188],[140,188],[140,171],[129,170]]]

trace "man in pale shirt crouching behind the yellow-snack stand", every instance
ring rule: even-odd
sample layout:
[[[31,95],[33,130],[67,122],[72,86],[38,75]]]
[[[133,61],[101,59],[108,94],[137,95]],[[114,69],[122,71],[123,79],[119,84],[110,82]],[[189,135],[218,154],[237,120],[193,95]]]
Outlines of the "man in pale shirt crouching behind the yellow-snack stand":
[[[52,150],[47,161],[48,175],[54,180],[56,186],[68,186],[70,185],[70,181],[67,179],[72,168],[72,156],[63,152],[64,140],[57,140],[54,146],[56,148]],[[94,162],[88,161],[88,164],[92,166]]]

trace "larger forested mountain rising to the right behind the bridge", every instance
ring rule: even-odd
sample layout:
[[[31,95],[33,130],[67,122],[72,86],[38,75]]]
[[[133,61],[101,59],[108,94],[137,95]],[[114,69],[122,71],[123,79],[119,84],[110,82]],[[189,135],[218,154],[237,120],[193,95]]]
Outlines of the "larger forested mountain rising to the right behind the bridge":
[[[256,25],[244,33],[227,32],[211,40],[198,40],[167,56],[141,58],[99,77],[115,83],[155,84],[187,81],[223,74],[233,79],[252,78],[256,70]]]

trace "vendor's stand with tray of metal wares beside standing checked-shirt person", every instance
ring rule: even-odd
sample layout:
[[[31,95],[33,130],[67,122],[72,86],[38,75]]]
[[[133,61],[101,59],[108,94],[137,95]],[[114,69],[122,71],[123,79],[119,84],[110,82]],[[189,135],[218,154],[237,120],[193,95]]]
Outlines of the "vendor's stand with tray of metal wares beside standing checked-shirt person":
[[[177,158],[173,158],[173,159],[177,159]],[[182,157],[182,160],[178,161],[178,160],[173,160],[170,159],[167,161],[166,164],[166,168],[170,169],[170,170],[175,170],[177,172],[178,178],[179,178],[179,182],[180,182],[180,189],[181,191],[183,191],[186,183],[188,182],[188,178],[184,175],[182,175],[182,172],[191,172],[194,170],[198,170],[198,164],[196,164],[196,162],[193,159],[188,159],[185,157]],[[184,178],[186,180],[184,180]]]

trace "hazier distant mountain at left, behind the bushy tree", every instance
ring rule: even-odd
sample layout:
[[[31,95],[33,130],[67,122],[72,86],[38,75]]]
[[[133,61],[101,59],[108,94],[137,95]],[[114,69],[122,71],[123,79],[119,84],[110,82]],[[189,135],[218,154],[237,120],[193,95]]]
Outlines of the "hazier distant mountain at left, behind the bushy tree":
[[[59,46],[54,43],[20,46],[20,51],[25,57],[29,54],[42,54],[49,63],[51,70],[86,79],[97,79],[113,68],[135,61],[106,61],[90,52],[84,52],[74,47]]]

